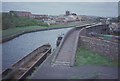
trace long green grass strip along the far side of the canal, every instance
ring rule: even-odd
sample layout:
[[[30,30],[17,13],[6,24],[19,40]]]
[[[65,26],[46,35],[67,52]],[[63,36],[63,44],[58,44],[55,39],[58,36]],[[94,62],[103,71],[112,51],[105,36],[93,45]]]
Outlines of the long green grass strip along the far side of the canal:
[[[39,30],[39,29],[43,29],[43,28],[60,28],[60,27],[73,27],[73,26],[80,26],[80,25],[84,25],[84,24],[90,24],[93,22],[72,22],[72,23],[68,23],[68,24],[57,24],[57,25],[50,25],[50,26],[23,26],[23,27],[15,27],[15,28],[9,28],[6,30],[0,30],[0,32],[2,31],[2,38],[9,38],[12,35],[16,35],[19,34],[21,32],[25,32],[25,31],[31,31],[31,30]]]

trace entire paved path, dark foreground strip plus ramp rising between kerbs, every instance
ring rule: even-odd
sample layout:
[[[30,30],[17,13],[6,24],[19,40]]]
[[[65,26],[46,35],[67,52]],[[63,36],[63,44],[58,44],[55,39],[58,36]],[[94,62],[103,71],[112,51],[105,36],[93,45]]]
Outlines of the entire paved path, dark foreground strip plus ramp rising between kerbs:
[[[116,79],[116,67],[81,66],[70,67],[75,55],[75,41],[79,30],[72,32],[65,40],[54,63],[51,63],[54,54],[32,74],[31,79]]]

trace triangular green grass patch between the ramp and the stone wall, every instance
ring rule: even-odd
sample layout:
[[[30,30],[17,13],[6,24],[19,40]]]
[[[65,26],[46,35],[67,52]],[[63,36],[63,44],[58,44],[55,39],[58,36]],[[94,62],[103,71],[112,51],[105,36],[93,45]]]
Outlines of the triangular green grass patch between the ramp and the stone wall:
[[[75,65],[117,66],[118,63],[100,54],[92,52],[89,49],[81,47],[78,48]]]

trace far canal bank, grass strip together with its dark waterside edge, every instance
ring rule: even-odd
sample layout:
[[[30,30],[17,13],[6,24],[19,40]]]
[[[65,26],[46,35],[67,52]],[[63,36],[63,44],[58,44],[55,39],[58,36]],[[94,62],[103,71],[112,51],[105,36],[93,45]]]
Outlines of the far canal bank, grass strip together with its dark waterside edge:
[[[21,30],[21,28],[18,29],[18,30],[14,30],[15,33],[13,33],[14,31],[11,31],[11,30],[8,30],[7,32],[3,32],[2,31],[2,40],[0,40],[0,43],[4,43],[4,42],[7,42],[9,40],[12,40],[20,35],[23,35],[23,34],[26,34],[26,33],[32,33],[32,32],[37,32],[37,31],[45,31],[45,30],[53,30],[53,29],[62,29],[62,28],[71,28],[71,27],[76,27],[76,26],[81,26],[81,25],[86,25],[86,24],[95,24],[97,22],[86,22],[86,21],[81,21],[81,22],[76,22],[76,23],[69,23],[68,25],[60,25],[60,26],[49,26],[49,27],[41,27],[41,26],[30,26],[30,27],[27,27],[27,28],[23,28],[23,30]],[[32,28],[33,27],[33,28]],[[12,34],[11,34],[11,33]],[[7,33],[7,36],[4,35]]]

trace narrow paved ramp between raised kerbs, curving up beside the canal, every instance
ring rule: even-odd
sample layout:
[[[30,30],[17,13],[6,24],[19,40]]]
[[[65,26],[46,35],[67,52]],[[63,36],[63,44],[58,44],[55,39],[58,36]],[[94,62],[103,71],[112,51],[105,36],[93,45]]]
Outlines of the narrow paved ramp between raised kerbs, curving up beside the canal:
[[[73,56],[75,55],[75,49],[77,43],[75,42],[78,38],[79,31],[72,32],[65,40],[54,64],[57,65],[70,65]]]

